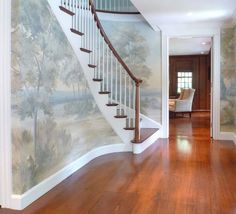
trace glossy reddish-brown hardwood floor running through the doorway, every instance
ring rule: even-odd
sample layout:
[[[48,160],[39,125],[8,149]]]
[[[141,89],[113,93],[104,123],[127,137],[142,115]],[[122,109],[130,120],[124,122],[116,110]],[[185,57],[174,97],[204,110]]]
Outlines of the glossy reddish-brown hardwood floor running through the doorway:
[[[170,133],[141,155],[99,157],[25,210],[0,213],[236,213],[236,146],[211,141],[202,113],[171,119]]]

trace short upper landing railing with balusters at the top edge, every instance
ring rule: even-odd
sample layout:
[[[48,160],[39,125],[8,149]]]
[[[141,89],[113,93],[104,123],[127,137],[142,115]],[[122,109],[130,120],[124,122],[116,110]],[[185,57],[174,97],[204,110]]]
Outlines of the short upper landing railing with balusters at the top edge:
[[[94,0],[94,6],[98,12],[139,14],[130,0]]]

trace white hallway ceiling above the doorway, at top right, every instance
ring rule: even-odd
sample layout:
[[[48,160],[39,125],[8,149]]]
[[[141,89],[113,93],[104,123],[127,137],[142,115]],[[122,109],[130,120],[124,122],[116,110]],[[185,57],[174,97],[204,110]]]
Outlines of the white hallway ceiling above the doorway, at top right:
[[[149,24],[167,25],[231,23],[236,0],[131,0]]]

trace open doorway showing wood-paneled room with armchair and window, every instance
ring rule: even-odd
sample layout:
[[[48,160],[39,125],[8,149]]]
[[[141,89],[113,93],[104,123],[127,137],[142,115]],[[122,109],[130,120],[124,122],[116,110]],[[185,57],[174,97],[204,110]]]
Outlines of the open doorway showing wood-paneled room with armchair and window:
[[[179,130],[173,129],[175,125],[190,126],[191,121],[200,118],[198,127],[211,136],[211,48],[211,37],[169,39],[170,131]]]

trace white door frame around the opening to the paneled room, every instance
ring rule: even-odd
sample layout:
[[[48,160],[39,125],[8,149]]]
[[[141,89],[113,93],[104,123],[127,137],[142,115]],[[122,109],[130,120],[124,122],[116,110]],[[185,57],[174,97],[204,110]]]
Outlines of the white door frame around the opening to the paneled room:
[[[211,78],[211,114],[212,137],[220,136],[220,27],[219,26],[174,26],[162,29],[162,126],[163,137],[169,137],[169,40],[176,37],[211,37],[212,78]]]

